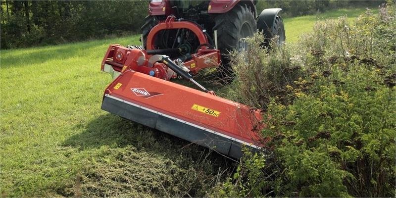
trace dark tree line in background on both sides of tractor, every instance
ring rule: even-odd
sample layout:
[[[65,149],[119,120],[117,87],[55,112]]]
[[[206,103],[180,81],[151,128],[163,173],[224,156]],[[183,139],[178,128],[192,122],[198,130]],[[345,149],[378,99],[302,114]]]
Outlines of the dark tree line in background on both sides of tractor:
[[[370,2],[259,0],[257,10],[282,7],[283,14],[297,16]],[[0,48],[10,49],[140,33],[148,13],[148,0],[1,0],[0,8]]]

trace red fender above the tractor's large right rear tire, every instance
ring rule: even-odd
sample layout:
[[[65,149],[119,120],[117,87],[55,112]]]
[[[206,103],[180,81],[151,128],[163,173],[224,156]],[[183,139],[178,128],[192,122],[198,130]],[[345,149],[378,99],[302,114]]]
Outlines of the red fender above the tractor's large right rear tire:
[[[254,17],[257,16],[256,6],[252,0],[211,0],[209,2],[207,12],[210,14],[225,13],[234,8],[238,3],[247,4],[247,6],[249,6],[254,12]]]

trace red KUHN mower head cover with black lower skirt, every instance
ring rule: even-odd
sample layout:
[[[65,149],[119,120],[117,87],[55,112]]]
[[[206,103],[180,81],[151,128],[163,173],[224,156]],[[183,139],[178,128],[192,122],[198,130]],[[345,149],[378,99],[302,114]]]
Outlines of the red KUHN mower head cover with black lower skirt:
[[[101,109],[234,158],[243,145],[260,149],[258,111],[133,70],[107,87]]]

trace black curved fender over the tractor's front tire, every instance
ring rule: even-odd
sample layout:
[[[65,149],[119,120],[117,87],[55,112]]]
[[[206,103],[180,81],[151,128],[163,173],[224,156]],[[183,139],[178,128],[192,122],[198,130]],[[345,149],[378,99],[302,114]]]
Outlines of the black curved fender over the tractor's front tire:
[[[258,31],[266,32],[266,30],[271,30],[271,32],[275,32],[275,20],[278,16],[278,13],[282,11],[282,8],[269,8],[264,9],[260,15],[257,17],[257,29]]]

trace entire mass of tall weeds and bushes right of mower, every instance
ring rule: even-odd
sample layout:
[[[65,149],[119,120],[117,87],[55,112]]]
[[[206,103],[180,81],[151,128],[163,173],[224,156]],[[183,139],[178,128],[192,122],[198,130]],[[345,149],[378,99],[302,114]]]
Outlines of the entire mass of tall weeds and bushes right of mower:
[[[395,10],[319,22],[296,45],[249,40],[228,94],[266,111],[270,141],[216,196],[395,196]]]

